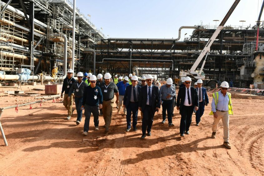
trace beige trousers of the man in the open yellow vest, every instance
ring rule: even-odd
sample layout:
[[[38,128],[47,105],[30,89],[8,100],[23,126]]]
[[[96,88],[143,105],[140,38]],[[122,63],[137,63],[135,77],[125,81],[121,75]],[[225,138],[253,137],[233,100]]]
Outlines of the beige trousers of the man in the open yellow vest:
[[[217,118],[213,118],[213,127],[212,127],[212,131],[216,132],[217,130],[217,126],[218,123],[220,121],[220,119],[222,119],[222,123],[223,123],[223,129],[224,129],[224,142],[228,142],[229,140],[229,114],[228,111],[226,112],[221,112],[221,111],[216,111],[217,114]]]

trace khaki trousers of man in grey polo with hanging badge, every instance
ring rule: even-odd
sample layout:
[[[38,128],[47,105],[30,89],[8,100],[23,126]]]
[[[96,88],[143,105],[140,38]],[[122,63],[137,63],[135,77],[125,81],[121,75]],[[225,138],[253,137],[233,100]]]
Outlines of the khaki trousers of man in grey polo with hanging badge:
[[[114,107],[114,102],[115,100],[109,100],[109,101],[103,101],[103,116],[104,116],[104,120],[105,120],[105,128],[110,127],[111,124],[111,120],[112,120],[112,111],[113,111],[113,107]]]

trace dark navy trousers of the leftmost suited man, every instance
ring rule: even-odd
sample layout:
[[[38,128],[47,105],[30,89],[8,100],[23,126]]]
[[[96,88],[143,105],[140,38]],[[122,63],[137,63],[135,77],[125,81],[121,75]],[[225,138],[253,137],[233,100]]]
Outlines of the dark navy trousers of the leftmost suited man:
[[[133,113],[132,115],[132,126],[135,129],[137,122],[138,122],[138,112],[139,112],[139,102],[130,102],[128,106],[126,107],[126,127],[127,129],[131,128],[131,112]]]

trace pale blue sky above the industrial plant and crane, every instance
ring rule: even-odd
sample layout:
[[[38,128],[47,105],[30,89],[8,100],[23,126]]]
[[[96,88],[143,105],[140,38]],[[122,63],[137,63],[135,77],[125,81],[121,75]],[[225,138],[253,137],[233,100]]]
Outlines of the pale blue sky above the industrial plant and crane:
[[[178,38],[181,26],[216,25],[234,0],[76,0],[106,38]],[[256,24],[262,0],[241,0],[225,26]],[[91,17],[87,15],[90,14]],[[239,22],[239,21],[246,22]],[[264,13],[261,20],[264,20]],[[192,34],[183,29],[181,39]]]

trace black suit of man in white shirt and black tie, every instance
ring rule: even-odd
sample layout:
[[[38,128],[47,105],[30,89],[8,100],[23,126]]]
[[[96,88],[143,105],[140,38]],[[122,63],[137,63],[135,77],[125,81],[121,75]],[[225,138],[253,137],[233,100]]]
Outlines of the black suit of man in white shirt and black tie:
[[[197,89],[195,89],[194,87],[190,87],[189,91],[191,91],[191,99],[193,104],[192,106],[184,105],[185,96],[187,96],[185,86],[179,88],[177,96],[176,105],[179,107],[181,114],[180,134],[183,134],[184,131],[189,131],[192,122],[193,109],[195,108],[195,106],[199,107]]]

